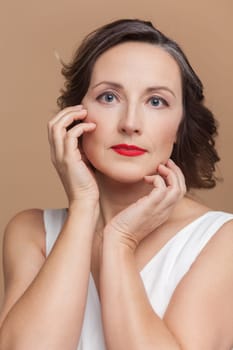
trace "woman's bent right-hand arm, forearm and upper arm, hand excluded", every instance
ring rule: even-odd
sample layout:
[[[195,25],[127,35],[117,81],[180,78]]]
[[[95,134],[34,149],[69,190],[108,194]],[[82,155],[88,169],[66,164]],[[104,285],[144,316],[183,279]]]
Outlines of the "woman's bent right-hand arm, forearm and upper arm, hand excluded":
[[[231,222],[207,245],[176,288],[163,320],[150,305],[132,249],[106,235],[101,296],[108,349],[231,349],[232,232]]]

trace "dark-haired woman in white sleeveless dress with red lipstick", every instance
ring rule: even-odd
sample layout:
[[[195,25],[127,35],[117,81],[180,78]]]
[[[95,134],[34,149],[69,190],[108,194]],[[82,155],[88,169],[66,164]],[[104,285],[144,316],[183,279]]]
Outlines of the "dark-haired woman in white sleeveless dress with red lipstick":
[[[233,215],[186,194],[219,160],[197,75],[139,20],[91,33],[63,74],[48,132],[68,209],[7,226],[1,349],[230,349]]]

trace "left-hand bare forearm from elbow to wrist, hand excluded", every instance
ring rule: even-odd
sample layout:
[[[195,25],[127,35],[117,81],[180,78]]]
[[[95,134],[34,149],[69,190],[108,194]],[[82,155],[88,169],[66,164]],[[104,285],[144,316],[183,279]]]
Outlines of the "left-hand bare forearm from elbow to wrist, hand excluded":
[[[3,322],[1,348],[76,349],[95,229],[92,212],[87,209],[82,206],[69,212],[40,272]]]

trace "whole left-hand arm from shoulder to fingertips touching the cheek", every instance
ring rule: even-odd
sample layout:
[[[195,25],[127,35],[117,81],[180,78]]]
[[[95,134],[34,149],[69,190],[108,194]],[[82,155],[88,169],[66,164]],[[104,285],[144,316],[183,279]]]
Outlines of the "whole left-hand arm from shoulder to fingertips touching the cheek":
[[[77,140],[94,130],[82,106],[58,113],[48,125],[51,158],[65,188],[65,225],[45,260],[40,211],[16,216],[5,234],[6,298],[0,348],[76,349],[86,303],[93,234],[99,213],[98,188]]]

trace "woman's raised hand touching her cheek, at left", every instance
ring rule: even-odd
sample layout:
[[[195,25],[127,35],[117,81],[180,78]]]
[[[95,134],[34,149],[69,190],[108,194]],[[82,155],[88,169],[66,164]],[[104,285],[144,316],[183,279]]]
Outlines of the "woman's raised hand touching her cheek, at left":
[[[83,106],[67,107],[48,123],[51,159],[65,188],[69,205],[73,202],[99,199],[98,186],[91,165],[80,150],[80,136],[95,130],[96,124],[85,123]],[[81,121],[69,129],[75,122]]]

